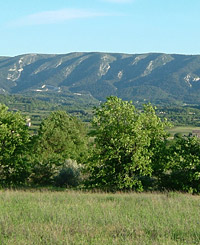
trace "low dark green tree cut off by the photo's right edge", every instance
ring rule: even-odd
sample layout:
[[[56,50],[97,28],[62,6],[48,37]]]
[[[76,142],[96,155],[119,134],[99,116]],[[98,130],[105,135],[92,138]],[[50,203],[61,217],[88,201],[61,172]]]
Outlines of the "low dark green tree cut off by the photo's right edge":
[[[200,139],[178,137],[168,149],[162,186],[178,191],[200,192]]]

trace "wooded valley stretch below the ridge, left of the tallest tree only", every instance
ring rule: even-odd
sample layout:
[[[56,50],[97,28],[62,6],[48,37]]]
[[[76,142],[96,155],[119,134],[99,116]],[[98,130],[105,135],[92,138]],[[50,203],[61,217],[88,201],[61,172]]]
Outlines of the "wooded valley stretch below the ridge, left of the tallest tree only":
[[[33,96],[25,95],[2,95],[0,103],[5,104],[11,111],[20,111],[31,119],[32,133],[36,133],[42,120],[52,111],[67,111],[73,116],[89,122],[92,118],[92,108],[99,104],[98,101],[88,100],[84,96],[62,96],[62,94],[45,93]]]

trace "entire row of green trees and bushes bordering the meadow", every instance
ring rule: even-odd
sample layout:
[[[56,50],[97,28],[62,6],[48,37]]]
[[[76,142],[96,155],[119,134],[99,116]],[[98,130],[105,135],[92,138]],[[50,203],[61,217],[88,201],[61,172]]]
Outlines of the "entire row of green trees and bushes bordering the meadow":
[[[51,113],[31,136],[24,118],[0,106],[1,185],[80,184],[103,190],[200,192],[200,140],[168,139],[150,105],[109,97],[92,130],[65,112]],[[82,179],[80,178],[82,176]]]

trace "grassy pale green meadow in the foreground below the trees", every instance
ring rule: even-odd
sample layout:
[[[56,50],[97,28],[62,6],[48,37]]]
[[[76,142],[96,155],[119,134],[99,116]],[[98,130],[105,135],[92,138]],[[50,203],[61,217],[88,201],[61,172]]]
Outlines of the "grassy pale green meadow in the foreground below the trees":
[[[0,244],[200,244],[200,197],[2,190]]]

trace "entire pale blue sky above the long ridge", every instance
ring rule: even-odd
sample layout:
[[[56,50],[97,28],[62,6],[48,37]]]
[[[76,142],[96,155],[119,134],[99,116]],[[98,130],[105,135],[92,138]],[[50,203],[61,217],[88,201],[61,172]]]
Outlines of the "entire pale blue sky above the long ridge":
[[[199,0],[6,0],[0,7],[0,56],[200,54],[199,10]]]

